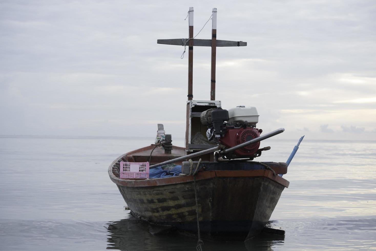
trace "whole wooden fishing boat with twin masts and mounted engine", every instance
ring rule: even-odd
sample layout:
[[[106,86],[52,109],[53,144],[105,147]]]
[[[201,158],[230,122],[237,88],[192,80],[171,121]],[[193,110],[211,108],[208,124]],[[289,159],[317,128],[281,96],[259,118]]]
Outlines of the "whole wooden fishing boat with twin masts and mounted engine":
[[[284,162],[257,162],[270,147],[260,141],[284,132],[262,134],[255,107],[229,110],[215,100],[216,47],[246,46],[217,40],[217,9],[211,39],[194,39],[193,8],[189,38],[158,39],[158,44],[188,46],[188,101],[185,147],[172,144],[158,125],[155,144],[125,153],[108,168],[132,215],[151,224],[211,240],[244,241],[257,236],[270,219],[289,181]],[[211,47],[210,100],[193,100],[193,48]],[[152,175],[153,174],[153,175]],[[154,174],[158,174],[155,176]]]

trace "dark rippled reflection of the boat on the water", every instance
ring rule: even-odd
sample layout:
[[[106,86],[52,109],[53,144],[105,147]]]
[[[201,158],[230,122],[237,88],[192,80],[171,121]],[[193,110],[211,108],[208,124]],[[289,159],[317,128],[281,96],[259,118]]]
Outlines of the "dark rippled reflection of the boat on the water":
[[[130,216],[120,221],[109,222],[105,226],[108,231],[107,249],[116,250],[191,250],[197,239],[181,235],[176,231],[164,234],[151,234],[150,225]],[[246,242],[212,242],[205,241],[208,250],[273,250],[283,245],[285,236],[260,234]]]

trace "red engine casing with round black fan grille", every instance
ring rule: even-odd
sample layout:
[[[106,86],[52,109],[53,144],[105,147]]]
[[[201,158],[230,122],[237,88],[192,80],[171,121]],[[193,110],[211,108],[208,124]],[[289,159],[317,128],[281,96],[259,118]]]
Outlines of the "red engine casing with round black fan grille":
[[[253,127],[246,127],[245,129],[243,127],[228,128],[226,130],[226,134],[223,137],[219,138],[219,141],[226,147],[233,147],[235,145],[239,145],[241,143],[259,137],[261,132],[261,129]],[[234,153],[238,156],[252,156],[257,152],[259,147],[260,142],[256,142],[241,149],[235,150]]]

